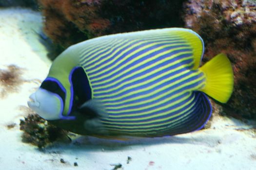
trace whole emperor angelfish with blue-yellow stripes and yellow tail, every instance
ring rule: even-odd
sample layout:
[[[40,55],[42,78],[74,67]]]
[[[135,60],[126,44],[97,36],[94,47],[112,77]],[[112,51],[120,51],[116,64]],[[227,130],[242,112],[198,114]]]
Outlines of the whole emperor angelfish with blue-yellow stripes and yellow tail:
[[[207,96],[225,103],[233,70],[225,54],[199,67],[202,38],[167,28],[106,35],[72,45],[30,96],[31,109],[90,136],[172,136],[204,127]]]

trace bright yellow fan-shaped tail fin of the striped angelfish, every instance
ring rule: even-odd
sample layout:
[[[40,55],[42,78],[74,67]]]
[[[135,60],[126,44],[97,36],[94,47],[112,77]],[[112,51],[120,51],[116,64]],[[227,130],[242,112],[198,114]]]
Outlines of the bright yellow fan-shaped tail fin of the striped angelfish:
[[[206,76],[206,85],[200,91],[219,102],[228,102],[234,85],[233,69],[228,57],[220,53],[199,69]]]

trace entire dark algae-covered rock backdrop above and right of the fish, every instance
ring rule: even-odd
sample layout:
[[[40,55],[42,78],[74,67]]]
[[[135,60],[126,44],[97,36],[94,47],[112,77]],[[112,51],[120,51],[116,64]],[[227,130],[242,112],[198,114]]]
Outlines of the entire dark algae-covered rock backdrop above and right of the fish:
[[[105,34],[185,25],[204,39],[203,63],[219,52],[226,53],[232,61],[235,89],[230,101],[222,105],[223,113],[256,119],[255,0],[39,0],[39,3],[45,17],[45,33],[63,49]]]

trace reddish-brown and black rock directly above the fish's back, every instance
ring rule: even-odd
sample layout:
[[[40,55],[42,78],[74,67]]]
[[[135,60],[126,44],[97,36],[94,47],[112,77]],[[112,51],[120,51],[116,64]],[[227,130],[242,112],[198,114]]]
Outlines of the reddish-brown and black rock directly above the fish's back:
[[[64,48],[106,34],[182,26],[184,0],[39,0],[45,33]]]

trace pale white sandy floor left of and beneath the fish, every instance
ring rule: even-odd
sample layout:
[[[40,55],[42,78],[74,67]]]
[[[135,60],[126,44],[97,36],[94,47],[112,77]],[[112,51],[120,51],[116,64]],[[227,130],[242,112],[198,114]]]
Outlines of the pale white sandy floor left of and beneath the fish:
[[[14,74],[8,85],[0,80],[1,170],[256,170],[255,122],[225,117],[215,117],[209,129],[171,137],[75,136],[43,151],[22,143],[19,123],[31,112],[28,96],[51,65],[40,42],[41,22],[27,9],[0,9],[0,72]]]

